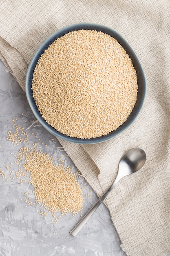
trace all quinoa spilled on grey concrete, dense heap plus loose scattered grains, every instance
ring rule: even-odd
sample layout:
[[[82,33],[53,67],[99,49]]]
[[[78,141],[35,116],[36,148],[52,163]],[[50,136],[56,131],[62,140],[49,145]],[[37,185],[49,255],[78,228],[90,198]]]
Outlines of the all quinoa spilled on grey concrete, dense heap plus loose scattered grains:
[[[14,122],[15,120],[12,119]],[[31,133],[33,135],[33,132]],[[19,125],[14,128],[14,131],[8,132],[7,140],[22,141],[23,135],[29,138],[27,132],[24,132],[24,128]],[[40,140],[40,139],[39,139]],[[29,144],[29,143],[28,143]],[[47,145],[46,145],[47,146]],[[38,150],[38,143],[32,143],[32,147],[22,146],[18,150],[18,153],[14,155],[16,158],[15,164],[18,165],[18,170],[9,170],[6,165],[6,169],[9,170],[10,178],[14,179],[13,174],[17,180],[20,180],[20,184],[25,183],[24,177],[28,177],[27,173],[30,173],[29,184],[34,186],[35,203],[41,204],[40,207],[44,209],[40,210],[40,215],[45,219],[47,213],[51,212],[55,218],[55,212],[60,211],[58,219],[68,212],[77,213],[82,209],[84,198],[82,196],[82,190],[76,180],[72,168],[69,165],[63,164],[56,165],[52,156],[49,153],[43,153],[42,150]],[[12,165],[12,162],[10,163]],[[10,166],[11,166],[10,165]],[[2,178],[7,179],[6,174],[0,168],[0,175]],[[17,186],[18,188],[18,186]],[[28,191],[24,193],[27,198],[24,199],[26,203],[25,208],[29,205],[35,205],[31,202],[31,196]],[[38,212],[38,210],[36,210]],[[57,223],[57,220],[55,220]]]

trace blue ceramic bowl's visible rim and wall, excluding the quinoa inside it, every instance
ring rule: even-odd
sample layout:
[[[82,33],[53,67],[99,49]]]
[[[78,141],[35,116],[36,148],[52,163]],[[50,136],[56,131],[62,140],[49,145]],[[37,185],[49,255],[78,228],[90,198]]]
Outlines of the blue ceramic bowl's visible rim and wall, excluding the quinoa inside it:
[[[132,60],[132,63],[137,73],[137,83],[138,83],[137,101],[127,120],[124,122],[124,124],[119,126],[113,132],[110,132],[109,134],[98,137],[98,138],[91,138],[91,139],[78,139],[78,138],[69,137],[67,135],[62,134],[61,132],[58,132],[57,130],[55,130],[55,128],[47,124],[47,122],[42,118],[37,106],[35,105],[35,101],[33,99],[33,92],[31,90],[33,72],[41,54],[44,53],[44,50],[47,49],[49,45],[51,45],[57,38],[64,36],[64,34],[68,32],[79,30],[79,29],[90,29],[90,30],[102,31],[112,36],[113,38],[115,38],[118,41],[118,43],[126,50],[127,54]],[[132,122],[135,120],[135,118],[139,114],[139,111],[141,110],[142,104],[144,102],[145,93],[146,93],[146,79],[144,76],[144,71],[141,67],[139,59],[137,58],[135,52],[132,50],[130,45],[128,45],[126,40],[122,38],[116,31],[108,27],[104,27],[102,25],[97,25],[97,24],[89,24],[89,23],[74,24],[56,31],[54,34],[49,36],[49,38],[47,38],[42,43],[42,45],[40,45],[38,50],[35,52],[29,64],[27,74],[26,74],[26,97],[28,99],[29,105],[35,117],[38,119],[40,124],[42,124],[42,126],[44,126],[46,130],[51,132],[56,137],[64,139],[66,141],[79,143],[79,144],[95,144],[95,143],[103,142],[123,132],[126,128],[128,128],[132,124]]]

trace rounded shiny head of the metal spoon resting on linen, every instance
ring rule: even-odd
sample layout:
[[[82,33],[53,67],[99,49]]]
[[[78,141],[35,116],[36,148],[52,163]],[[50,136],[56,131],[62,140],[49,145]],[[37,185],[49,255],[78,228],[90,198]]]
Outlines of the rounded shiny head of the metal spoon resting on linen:
[[[132,148],[121,157],[120,163],[121,162],[123,162],[124,165],[126,164],[130,173],[135,173],[145,164],[146,153],[141,148]]]

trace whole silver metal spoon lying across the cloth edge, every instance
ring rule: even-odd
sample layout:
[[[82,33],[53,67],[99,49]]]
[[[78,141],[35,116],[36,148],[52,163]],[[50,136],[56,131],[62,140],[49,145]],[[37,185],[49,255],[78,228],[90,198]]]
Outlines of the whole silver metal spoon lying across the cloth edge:
[[[104,193],[104,195],[95,203],[95,205],[86,213],[86,215],[80,220],[80,222],[75,226],[75,228],[71,231],[72,236],[76,236],[80,229],[84,226],[84,224],[88,221],[88,219],[92,216],[95,210],[99,207],[99,205],[106,198],[108,193],[113,189],[113,187],[117,184],[117,182],[124,176],[135,173],[138,171],[146,162],[146,153],[141,148],[132,148],[128,150],[120,159],[119,162],[119,170],[117,177],[110,188]]]

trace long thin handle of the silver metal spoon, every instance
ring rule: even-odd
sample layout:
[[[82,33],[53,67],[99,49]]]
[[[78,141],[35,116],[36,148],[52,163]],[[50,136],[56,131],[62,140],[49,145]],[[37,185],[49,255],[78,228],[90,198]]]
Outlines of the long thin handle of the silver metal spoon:
[[[76,236],[77,233],[82,229],[84,224],[88,221],[88,219],[92,216],[92,214],[95,212],[95,210],[99,207],[99,205],[103,202],[103,200],[106,198],[108,193],[113,189],[113,187],[116,185],[117,182],[114,182],[112,186],[102,195],[101,198],[93,205],[93,207],[86,213],[86,215],[82,218],[82,220],[79,221],[79,223],[73,228],[71,231],[72,236]]]

